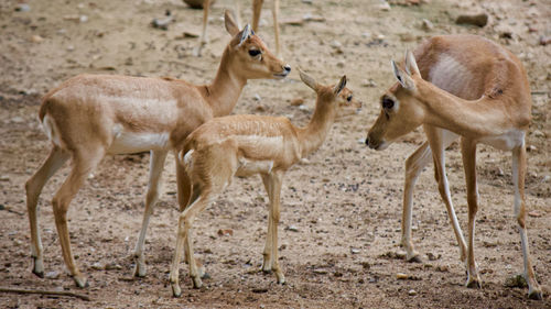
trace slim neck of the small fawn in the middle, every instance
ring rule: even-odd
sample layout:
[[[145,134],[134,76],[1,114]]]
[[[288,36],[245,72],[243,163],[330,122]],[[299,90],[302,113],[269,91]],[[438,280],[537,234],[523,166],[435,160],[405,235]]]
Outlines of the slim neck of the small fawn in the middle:
[[[314,115],[305,128],[298,129],[299,143],[302,146],[302,157],[315,152],[327,137],[335,122],[335,109],[317,98]]]

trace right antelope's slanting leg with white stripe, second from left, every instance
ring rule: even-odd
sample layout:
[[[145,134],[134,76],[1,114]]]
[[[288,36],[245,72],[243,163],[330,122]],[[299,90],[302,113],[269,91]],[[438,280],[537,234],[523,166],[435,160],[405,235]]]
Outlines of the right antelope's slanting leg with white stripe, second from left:
[[[439,183],[439,192],[444,201],[444,205],[447,210],[447,216],[450,217],[450,221],[452,222],[452,228],[455,233],[455,239],[460,245],[460,258],[462,262],[466,261],[466,244],[465,239],[463,238],[463,232],[461,231],[460,223],[457,222],[457,216],[455,214],[455,210],[452,203],[452,196],[450,194],[450,185],[447,183],[447,176],[445,173],[445,147],[446,140],[452,137],[446,136],[445,134],[451,134],[449,131],[440,130],[440,129],[429,129],[425,130],[426,136],[429,137],[429,144],[432,150],[432,155],[434,158],[434,173],[436,181]],[[457,135],[450,135],[455,139]],[[450,142],[451,143],[451,142]]]

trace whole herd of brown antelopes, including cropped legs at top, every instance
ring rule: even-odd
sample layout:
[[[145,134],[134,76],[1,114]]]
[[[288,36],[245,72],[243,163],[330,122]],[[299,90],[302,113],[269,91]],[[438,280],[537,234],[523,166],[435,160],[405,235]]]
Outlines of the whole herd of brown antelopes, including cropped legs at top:
[[[253,29],[258,25],[261,3],[253,1]],[[274,20],[278,5],[274,3]],[[206,9],[202,45],[206,42],[207,12]],[[274,24],[278,29],[277,22]],[[278,30],[278,53],[274,55],[250,25],[240,29],[228,11],[225,12],[225,26],[231,40],[208,85],[197,86],[173,78],[79,75],[44,96],[39,118],[52,148],[25,184],[35,275],[44,276],[37,202],[48,178],[71,161],[71,172],[55,192],[52,207],[65,264],[76,285],[86,287],[86,277],[75,264],[71,249],[67,227],[71,201],[105,155],[149,151],[150,174],[143,220],[133,253],[134,276],[147,274],[143,255],[147,229],[158,201],[164,162],[172,152],[176,158],[180,207],[170,268],[173,295],[182,293],[179,284],[182,253],[188,263],[193,286],[202,286],[205,269],[193,255],[193,221],[228,187],[234,176],[259,174],[262,179],[269,197],[269,214],[261,271],[273,272],[278,283],[285,283],[278,263],[283,176],[293,164],[323,144],[339,110],[359,109],[361,103],[346,88],[346,76],[335,85],[323,85],[299,69],[301,80],[317,97],[306,126],[298,128],[283,117],[229,115],[249,79],[283,79],[291,67],[277,56],[280,52]],[[488,144],[512,153],[514,209],[523,254],[523,276],[529,297],[542,299],[526,228],[525,137],[531,121],[531,98],[520,60],[480,36],[441,35],[424,41],[413,52],[406,52],[401,65],[391,63],[391,71],[397,82],[380,97],[380,113],[365,143],[382,151],[420,125],[426,135],[426,142],[406,161],[401,245],[407,260],[420,261],[411,242],[413,189],[421,170],[432,158],[437,188],[457,239],[460,260],[465,263],[466,286],[482,286],[474,254],[478,209],[476,145]],[[444,151],[457,139],[466,179],[467,241],[457,222],[445,173]]]

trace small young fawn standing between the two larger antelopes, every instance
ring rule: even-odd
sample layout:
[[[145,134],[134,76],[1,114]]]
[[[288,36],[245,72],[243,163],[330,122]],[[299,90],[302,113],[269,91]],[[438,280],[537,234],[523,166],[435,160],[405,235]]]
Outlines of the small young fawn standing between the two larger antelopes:
[[[263,272],[274,272],[279,284],[285,282],[278,264],[278,223],[280,219],[281,183],[285,172],[298,161],[316,151],[325,140],[339,107],[360,103],[345,88],[343,76],[336,86],[322,86],[300,71],[302,81],[317,93],[314,115],[305,128],[294,126],[284,117],[229,115],[213,119],[187,136],[180,153],[192,180],[191,205],[180,214],[176,249],[170,282],[174,296],[182,290],[179,264],[182,251],[190,261],[194,287],[201,287],[201,273],[193,258],[190,235],[193,220],[231,183],[234,176],[260,174],[270,199],[268,235],[263,250]],[[185,249],[185,250],[184,250]]]

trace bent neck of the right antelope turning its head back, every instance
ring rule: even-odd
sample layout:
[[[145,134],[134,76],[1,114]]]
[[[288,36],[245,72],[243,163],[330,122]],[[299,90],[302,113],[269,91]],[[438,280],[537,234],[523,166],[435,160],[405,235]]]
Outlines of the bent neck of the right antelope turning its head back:
[[[499,135],[512,126],[499,100],[483,97],[468,101],[429,81],[419,80],[417,85],[417,98],[424,109],[424,123],[467,137]]]

